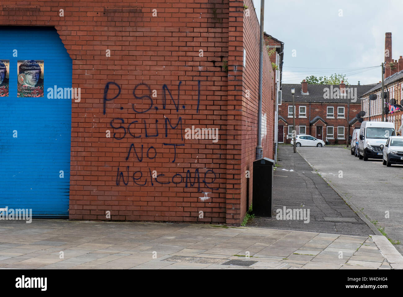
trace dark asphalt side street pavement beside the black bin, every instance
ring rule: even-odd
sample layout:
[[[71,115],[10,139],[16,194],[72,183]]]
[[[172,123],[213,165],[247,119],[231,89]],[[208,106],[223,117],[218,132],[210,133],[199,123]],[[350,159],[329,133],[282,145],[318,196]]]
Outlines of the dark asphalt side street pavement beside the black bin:
[[[310,148],[323,150],[324,148]],[[337,179],[333,172],[329,179]],[[310,220],[276,220],[276,209],[309,209]],[[380,235],[366,218],[360,218],[293,147],[279,146],[273,178],[273,216],[254,218],[247,226],[332,234]]]

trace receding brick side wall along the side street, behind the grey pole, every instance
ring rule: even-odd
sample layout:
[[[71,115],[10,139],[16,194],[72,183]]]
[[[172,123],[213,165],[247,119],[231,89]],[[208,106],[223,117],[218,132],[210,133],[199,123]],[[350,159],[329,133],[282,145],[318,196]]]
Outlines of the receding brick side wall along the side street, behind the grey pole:
[[[251,0],[245,1],[251,10],[243,21],[243,48],[246,50],[246,66],[243,68],[243,121],[242,121],[242,163],[241,163],[241,218],[252,203],[253,161],[256,159],[256,135],[258,128],[259,96],[259,32],[260,24],[253,10]],[[257,11],[257,13],[260,13]],[[267,21],[267,20],[266,20]],[[243,49],[242,49],[243,50]],[[258,57],[254,59],[253,57]],[[275,60],[275,54],[274,60]],[[263,88],[262,88],[262,147],[263,157],[273,159],[273,117],[274,117],[274,71],[266,50],[263,52]],[[246,94],[249,91],[249,98]],[[245,171],[249,170],[249,181]],[[248,200],[248,201],[247,201]],[[247,205],[247,202],[249,205]]]

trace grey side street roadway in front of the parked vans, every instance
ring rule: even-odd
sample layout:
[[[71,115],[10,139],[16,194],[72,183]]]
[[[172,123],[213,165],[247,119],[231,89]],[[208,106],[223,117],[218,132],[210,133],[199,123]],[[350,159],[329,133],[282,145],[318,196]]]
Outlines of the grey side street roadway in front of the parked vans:
[[[367,222],[370,227],[376,231],[377,228],[383,229],[403,255],[402,165],[386,167],[381,159],[359,160],[350,154],[348,148],[340,146],[325,146],[323,149],[301,147],[298,154],[364,221],[376,224]],[[335,172],[342,175],[334,176]]]

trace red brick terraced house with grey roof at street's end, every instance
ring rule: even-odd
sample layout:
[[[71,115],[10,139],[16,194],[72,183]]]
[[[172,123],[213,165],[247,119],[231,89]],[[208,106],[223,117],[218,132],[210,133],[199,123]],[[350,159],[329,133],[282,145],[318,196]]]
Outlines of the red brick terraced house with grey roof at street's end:
[[[297,134],[309,134],[330,144],[345,144],[353,130],[360,126],[355,115],[361,111],[361,95],[373,87],[374,84],[346,86],[343,81],[340,85],[308,84],[305,79],[301,84],[282,84],[278,142],[291,142],[294,130],[292,88],[295,89]]]

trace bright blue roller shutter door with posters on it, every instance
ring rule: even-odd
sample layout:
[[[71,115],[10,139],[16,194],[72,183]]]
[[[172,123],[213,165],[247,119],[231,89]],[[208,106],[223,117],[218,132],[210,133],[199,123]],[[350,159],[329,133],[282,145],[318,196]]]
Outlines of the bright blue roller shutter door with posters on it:
[[[9,60],[8,97],[0,97],[0,208],[68,216],[72,60],[52,27],[0,27],[0,60]],[[43,62],[43,97],[17,97],[18,61]]]

